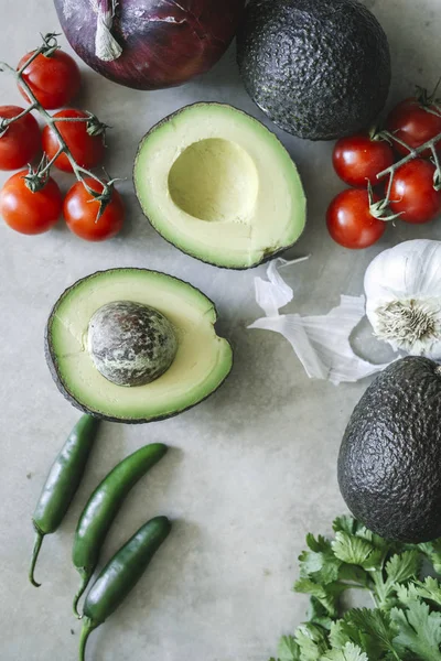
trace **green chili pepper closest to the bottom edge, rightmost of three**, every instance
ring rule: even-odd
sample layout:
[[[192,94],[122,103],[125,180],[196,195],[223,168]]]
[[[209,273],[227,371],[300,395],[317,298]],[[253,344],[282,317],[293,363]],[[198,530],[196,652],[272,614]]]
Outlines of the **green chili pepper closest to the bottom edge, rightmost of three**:
[[[92,586],[84,604],[83,629],[79,638],[79,661],[84,661],[92,631],[122,604],[141,578],[154,553],[169,535],[166,517],[155,517],[142,525],[114,555]]]

